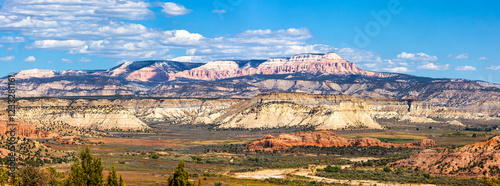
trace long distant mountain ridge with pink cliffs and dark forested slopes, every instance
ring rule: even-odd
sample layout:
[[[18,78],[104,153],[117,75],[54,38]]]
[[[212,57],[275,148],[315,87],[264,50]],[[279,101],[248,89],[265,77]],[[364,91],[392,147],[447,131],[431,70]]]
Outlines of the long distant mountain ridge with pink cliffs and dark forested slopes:
[[[336,53],[267,60],[125,62],[109,70],[23,70],[17,96],[251,98],[267,92],[417,98],[437,106],[500,108],[500,85],[365,71]],[[6,79],[0,80],[6,84]],[[6,86],[0,94],[7,94]]]

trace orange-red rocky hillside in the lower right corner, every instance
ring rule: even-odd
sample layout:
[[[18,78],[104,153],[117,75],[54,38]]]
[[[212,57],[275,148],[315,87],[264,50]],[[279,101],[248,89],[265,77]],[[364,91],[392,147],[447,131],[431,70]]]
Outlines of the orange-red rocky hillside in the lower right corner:
[[[500,174],[500,136],[458,149],[426,149],[391,165],[418,167],[436,175],[498,177]]]

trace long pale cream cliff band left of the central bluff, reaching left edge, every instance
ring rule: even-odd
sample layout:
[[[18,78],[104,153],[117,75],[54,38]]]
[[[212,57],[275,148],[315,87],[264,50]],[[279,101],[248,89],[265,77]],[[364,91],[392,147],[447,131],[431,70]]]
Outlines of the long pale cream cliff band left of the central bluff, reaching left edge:
[[[17,117],[39,127],[68,124],[101,129],[144,129],[144,122],[211,124],[238,99],[57,99],[18,100]],[[5,104],[4,104],[5,103]],[[0,109],[6,109],[0,100]]]

